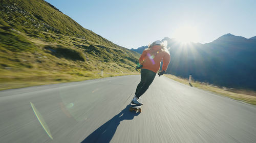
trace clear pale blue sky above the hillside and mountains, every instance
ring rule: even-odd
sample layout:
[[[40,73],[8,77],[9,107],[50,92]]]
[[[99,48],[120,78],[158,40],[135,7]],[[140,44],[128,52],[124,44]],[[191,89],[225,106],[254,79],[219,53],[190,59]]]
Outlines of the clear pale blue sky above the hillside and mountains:
[[[46,0],[84,28],[125,48],[164,37],[209,43],[256,36],[255,0]]]

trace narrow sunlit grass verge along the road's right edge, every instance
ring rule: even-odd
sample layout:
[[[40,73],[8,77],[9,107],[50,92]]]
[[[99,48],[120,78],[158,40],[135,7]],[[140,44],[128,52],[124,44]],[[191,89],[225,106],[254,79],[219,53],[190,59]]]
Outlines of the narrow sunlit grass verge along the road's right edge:
[[[216,93],[219,95],[223,95],[235,100],[240,100],[249,104],[256,105],[256,92],[248,91],[248,90],[234,90],[234,89],[227,89],[227,88],[219,88],[214,85],[209,85],[207,83],[198,82],[198,81],[191,81],[190,84],[188,83],[188,79],[184,79],[181,77],[177,77],[172,74],[164,74],[166,77],[181,82],[183,84],[193,86],[198,89],[210,91],[212,93]]]

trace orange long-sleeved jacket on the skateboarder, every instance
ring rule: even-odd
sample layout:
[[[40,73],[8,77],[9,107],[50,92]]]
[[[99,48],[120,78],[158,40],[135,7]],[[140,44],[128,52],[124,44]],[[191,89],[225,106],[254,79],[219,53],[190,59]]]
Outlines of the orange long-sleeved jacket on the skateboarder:
[[[170,62],[169,53],[161,50],[161,46],[154,45],[151,49],[145,49],[140,56],[140,65],[142,69],[151,70],[155,73],[160,69],[160,63],[163,60],[162,70],[166,71]]]

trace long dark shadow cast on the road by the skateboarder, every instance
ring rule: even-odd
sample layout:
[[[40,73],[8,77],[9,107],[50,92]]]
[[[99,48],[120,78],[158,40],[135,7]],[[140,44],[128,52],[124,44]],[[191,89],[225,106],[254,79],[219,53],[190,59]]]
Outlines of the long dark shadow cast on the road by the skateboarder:
[[[135,113],[129,111],[130,105],[127,105],[120,113],[110,119],[108,122],[100,126],[93,133],[87,136],[82,143],[89,142],[105,142],[108,143],[114,136],[117,127],[123,120],[132,120],[135,116],[138,116],[140,112]]]

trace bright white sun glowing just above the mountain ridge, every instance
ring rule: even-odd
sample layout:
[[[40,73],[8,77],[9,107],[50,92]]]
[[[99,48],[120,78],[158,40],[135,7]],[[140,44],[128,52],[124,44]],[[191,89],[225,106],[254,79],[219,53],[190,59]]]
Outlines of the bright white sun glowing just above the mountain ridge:
[[[174,31],[173,37],[182,43],[199,42],[200,37],[196,27],[184,25]]]

